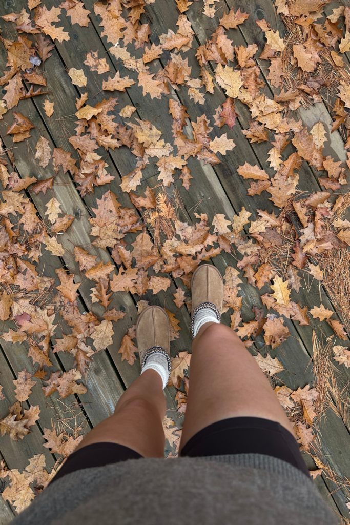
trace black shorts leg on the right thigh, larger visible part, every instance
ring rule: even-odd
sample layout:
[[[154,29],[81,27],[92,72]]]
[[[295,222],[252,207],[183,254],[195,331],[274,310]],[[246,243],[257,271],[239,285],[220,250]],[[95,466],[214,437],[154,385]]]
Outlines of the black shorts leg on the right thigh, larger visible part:
[[[275,421],[231,417],[203,428],[188,440],[181,456],[263,454],[287,461],[309,476],[294,436]]]

